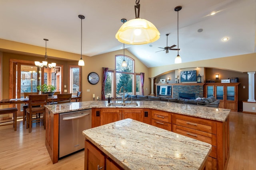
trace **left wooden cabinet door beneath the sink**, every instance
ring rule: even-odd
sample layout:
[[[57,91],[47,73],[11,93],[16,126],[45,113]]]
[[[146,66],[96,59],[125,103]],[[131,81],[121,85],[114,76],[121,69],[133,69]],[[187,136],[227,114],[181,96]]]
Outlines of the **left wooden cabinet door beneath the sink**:
[[[100,125],[105,125],[122,119],[122,110],[120,109],[102,109],[100,116]]]

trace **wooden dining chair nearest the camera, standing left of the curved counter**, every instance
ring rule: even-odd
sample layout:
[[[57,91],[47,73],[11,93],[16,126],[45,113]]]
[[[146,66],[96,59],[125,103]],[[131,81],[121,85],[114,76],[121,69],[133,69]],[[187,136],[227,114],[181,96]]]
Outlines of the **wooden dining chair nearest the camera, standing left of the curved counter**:
[[[28,108],[26,109],[26,129],[29,133],[32,131],[32,123],[43,121],[45,129],[45,111],[48,94],[30,94],[28,95]],[[43,117],[37,117],[36,114],[43,113]]]

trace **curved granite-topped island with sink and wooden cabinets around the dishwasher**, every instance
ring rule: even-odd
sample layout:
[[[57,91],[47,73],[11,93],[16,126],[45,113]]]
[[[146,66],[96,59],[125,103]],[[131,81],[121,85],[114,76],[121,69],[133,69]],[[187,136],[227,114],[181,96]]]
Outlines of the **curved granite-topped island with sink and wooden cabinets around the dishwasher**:
[[[209,169],[226,169],[229,160],[230,109],[158,101],[140,101],[137,104],[108,106],[107,101],[88,101],[45,106],[46,148],[52,162],[58,162],[59,115],[92,109],[92,127],[131,118],[209,143],[212,145],[208,156]]]

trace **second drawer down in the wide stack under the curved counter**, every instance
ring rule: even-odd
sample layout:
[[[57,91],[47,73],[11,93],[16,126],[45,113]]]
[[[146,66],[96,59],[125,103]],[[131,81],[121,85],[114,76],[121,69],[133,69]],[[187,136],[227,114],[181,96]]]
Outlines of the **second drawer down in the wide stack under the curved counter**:
[[[216,143],[217,143],[216,135],[214,135],[214,134],[198,131],[195,129],[190,129],[188,127],[183,127],[183,126],[179,126],[179,125],[173,125],[172,128],[173,128],[172,131],[175,133],[179,133],[181,135],[209,143],[213,146],[217,146],[216,145]]]

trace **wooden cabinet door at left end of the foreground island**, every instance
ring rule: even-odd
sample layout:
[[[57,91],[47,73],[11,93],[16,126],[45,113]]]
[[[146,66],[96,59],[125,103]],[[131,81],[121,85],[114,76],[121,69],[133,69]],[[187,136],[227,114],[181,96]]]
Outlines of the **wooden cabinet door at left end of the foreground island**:
[[[105,169],[106,157],[105,155],[92,145],[89,141],[85,141],[84,148],[84,169],[97,170]]]

